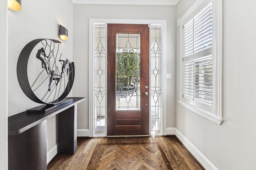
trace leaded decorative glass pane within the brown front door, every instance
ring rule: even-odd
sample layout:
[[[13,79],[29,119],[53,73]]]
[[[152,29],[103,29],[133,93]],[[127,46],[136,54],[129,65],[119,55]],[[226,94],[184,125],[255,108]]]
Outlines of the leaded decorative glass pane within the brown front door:
[[[140,34],[116,35],[116,110],[140,110]]]

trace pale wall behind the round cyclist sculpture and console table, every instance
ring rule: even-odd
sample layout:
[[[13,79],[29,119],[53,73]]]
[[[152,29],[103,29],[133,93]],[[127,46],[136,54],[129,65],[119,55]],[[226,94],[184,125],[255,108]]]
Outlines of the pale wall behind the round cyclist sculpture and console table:
[[[2,18],[1,18],[2,24]],[[23,47],[38,38],[50,38],[61,41],[58,37],[58,25],[68,29],[68,41],[60,44],[63,57],[72,61],[73,54],[73,4],[70,0],[22,0],[22,11],[8,10],[8,115],[26,111],[38,106],[21,90],[16,66]],[[1,80],[2,81],[2,80]],[[72,92],[70,93],[72,95]],[[2,97],[2,96],[1,96]],[[1,113],[2,114],[2,113]],[[58,131],[52,117],[47,123],[48,150],[57,142]]]

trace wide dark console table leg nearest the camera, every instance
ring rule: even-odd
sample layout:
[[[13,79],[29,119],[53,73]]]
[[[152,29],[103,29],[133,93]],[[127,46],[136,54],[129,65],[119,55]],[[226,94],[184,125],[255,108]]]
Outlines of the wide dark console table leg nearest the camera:
[[[8,136],[9,170],[46,170],[46,121]]]

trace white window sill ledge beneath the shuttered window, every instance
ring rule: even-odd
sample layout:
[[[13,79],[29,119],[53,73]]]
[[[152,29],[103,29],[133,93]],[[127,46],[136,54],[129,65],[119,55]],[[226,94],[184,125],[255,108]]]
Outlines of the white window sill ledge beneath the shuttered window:
[[[217,117],[216,115],[213,115],[207,111],[204,111],[202,109],[199,109],[198,107],[194,107],[192,105],[186,104],[184,102],[178,101],[180,103],[180,106],[185,107],[194,113],[197,113],[198,115],[201,115],[202,117],[205,117],[206,119],[209,119],[210,121],[213,121],[214,123],[217,123],[218,125],[221,125],[221,123],[224,121],[222,118]]]

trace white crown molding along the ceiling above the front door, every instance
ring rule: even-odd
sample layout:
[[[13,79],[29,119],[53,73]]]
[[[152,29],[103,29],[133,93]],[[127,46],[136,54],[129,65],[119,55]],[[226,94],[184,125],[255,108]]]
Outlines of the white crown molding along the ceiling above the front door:
[[[180,0],[71,0],[73,4],[101,5],[174,5]]]

